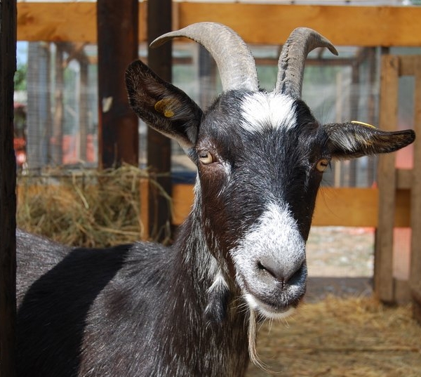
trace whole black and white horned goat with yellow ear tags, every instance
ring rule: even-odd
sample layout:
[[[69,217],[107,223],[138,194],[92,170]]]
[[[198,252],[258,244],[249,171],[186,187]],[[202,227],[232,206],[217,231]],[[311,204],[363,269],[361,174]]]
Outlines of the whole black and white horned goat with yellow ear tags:
[[[255,322],[289,315],[305,294],[305,243],[330,160],[392,152],[413,131],[319,124],[300,99],[307,53],[330,42],[295,29],[274,91],[261,91],[241,38],[200,23],[188,37],[220,70],[203,112],[140,61],[126,73],[140,118],[198,168],[175,244],[69,249],[18,232],[18,376],[243,376]]]

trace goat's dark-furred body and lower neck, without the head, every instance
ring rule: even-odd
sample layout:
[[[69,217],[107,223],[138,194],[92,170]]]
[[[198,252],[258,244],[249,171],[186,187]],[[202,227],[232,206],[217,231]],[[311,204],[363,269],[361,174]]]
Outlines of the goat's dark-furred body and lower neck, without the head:
[[[65,249],[20,231],[18,249],[18,376],[243,375],[245,313],[203,315],[206,250],[189,263],[177,244]]]

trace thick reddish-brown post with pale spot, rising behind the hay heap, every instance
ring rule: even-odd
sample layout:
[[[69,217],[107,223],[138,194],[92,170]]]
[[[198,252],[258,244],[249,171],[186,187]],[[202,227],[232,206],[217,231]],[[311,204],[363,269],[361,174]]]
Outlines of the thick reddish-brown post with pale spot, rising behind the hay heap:
[[[128,105],[124,73],[138,58],[138,0],[98,0],[98,162],[138,165],[138,117]]]

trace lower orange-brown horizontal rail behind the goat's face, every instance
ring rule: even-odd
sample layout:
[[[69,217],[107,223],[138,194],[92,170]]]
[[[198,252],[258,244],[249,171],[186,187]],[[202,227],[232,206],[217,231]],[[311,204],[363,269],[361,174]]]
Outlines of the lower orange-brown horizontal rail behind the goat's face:
[[[193,186],[173,186],[173,224],[187,217],[193,201]],[[312,225],[377,227],[378,190],[376,188],[322,187],[316,200]],[[395,226],[410,223],[410,190],[397,190]]]

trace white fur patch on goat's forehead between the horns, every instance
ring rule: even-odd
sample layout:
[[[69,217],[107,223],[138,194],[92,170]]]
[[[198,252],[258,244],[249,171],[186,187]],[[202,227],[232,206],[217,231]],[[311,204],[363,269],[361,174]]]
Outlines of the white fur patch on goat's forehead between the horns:
[[[281,93],[250,93],[241,102],[241,126],[249,132],[293,128],[297,124],[293,98]]]

